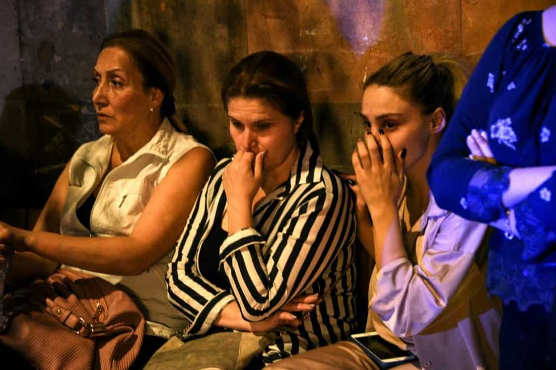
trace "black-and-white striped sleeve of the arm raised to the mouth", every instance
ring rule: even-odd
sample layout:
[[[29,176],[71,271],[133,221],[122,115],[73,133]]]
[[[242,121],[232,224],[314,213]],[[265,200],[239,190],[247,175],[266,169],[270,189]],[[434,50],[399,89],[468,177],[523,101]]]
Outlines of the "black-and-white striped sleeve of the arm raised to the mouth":
[[[220,248],[220,264],[242,316],[260,321],[306,290],[353,244],[353,200],[346,185],[323,171],[324,184],[307,185],[285,205],[272,242],[254,228],[230,235]],[[293,199],[295,198],[295,199]],[[265,252],[266,251],[266,252]]]

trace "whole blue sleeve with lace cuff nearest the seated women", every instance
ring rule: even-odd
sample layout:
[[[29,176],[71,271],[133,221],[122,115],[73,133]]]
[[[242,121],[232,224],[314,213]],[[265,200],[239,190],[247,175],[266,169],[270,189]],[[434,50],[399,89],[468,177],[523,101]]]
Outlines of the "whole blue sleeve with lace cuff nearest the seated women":
[[[438,205],[469,220],[492,222],[498,220],[503,212],[499,199],[507,184],[503,184],[505,187],[493,185],[489,189],[473,187],[473,184],[485,178],[504,178],[505,174],[500,173],[497,166],[468,159],[466,137],[471,129],[482,130],[488,124],[490,106],[504,75],[504,50],[519,19],[518,16],[510,19],[486,48],[463,90],[428,169],[429,185]],[[474,178],[478,171],[482,172],[478,178]],[[508,169],[502,171],[507,172]],[[474,183],[470,184],[471,181]],[[470,202],[480,197],[489,197],[489,192],[488,204],[470,205]],[[471,198],[468,194],[471,194]]]

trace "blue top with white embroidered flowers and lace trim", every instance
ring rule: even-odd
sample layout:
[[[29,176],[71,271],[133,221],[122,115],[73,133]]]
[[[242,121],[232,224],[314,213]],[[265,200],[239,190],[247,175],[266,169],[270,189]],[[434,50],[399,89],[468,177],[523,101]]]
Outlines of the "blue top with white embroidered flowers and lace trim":
[[[471,129],[484,130],[497,166],[467,158]],[[554,135],[552,135],[554,133]],[[439,206],[466,219],[505,216],[502,193],[513,168],[556,165],[556,48],[542,12],[510,19],[485,50],[441,140],[428,179]],[[552,195],[554,193],[554,195]],[[489,291],[520,310],[551,311],[556,286],[556,175],[514,207],[521,239],[495,230]]]

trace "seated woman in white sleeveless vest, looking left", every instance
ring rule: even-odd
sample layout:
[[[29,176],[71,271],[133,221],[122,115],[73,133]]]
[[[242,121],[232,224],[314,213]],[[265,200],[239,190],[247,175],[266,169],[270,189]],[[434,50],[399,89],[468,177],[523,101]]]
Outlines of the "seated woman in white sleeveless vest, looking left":
[[[76,151],[32,231],[0,222],[0,245],[17,251],[8,278],[61,264],[87,270],[125,290],[162,341],[187,325],[167,301],[165,275],[214,156],[174,128],[175,66],[147,32],[108,36],[92,76],[104,136]]]

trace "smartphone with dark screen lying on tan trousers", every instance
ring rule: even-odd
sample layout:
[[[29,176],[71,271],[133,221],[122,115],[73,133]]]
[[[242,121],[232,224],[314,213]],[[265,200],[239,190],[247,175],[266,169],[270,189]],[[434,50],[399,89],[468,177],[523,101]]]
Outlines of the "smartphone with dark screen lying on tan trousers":
[[[357,343],[381,369],[389,369],[417,359],[413,353],[386,341],[377,332],[352,334],[350,339]]]

